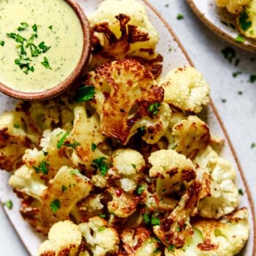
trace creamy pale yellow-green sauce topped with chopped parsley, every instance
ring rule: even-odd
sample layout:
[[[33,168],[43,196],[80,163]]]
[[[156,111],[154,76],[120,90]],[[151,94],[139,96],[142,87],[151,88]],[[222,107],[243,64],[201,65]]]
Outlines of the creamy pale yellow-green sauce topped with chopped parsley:
[[[51,89],[72,73],[82,50],[82,26],[66,1],[0,0],[4,85],[26,92]]]

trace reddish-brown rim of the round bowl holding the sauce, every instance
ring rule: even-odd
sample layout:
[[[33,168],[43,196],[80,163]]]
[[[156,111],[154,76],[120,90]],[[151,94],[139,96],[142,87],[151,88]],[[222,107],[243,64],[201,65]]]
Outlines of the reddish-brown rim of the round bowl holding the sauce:
[[[89,62],[90,53],[91,53],[91,31],[90,31],[90,24],[89,20],[86,18],[83,9],[80,7],[77,1],[75,0],[63,0],[72,7],[72,10],[75,11],[76,15],[80,20],[80,24],[83,30],[83,49],[80,56],[80,60],[78,61],[77,66],[71,74],[57,86],[53,88],[47,89],[45,91],[38,91],[38,92],[26,92],[26,91],[18,91],[12,89],[3,83],[0,82],[0,91],[4,94],[9,95],[10,97],[14,97],[16,99],[23,99],[23,100],[44,100],[44,99],[51,99],[53,97],[57,97],[60,94],[63,94],[67,89],[71,88],[75,80],[78,79],[79,75],[83,72],[83,67],[86,66]]]

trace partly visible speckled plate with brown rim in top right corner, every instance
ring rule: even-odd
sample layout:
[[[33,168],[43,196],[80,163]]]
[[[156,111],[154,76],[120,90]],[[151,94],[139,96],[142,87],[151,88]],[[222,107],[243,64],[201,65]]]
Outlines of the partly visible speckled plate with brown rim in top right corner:
[[[214,31],[219,37],[233,45],[256,52],[256,42],[246,39],[245,42],[237,42],[238,30],[235,27],[235,16],[227,12],[225,8],[219,8],[215,0],[187,0],[195,14]]]

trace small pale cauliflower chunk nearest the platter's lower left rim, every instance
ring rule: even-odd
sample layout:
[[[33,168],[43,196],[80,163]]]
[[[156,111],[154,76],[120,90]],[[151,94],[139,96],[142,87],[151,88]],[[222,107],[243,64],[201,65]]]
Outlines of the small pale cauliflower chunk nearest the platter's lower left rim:
[[[15,173],[10,177],[9,185],[37,199],[40,199],[42,192],[47,188],[39,173],[26,165],[15,170]]]

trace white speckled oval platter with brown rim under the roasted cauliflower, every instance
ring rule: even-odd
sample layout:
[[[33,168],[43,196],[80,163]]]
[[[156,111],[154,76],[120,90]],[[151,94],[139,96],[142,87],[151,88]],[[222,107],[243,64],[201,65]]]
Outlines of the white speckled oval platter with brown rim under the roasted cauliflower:
[[[79,0],[80,5],[83,7],[86,13],[89,13],[98,6],[100,0]],[[158,50],[162,53],[162,56],[165,56],[163,75],[165,75],[170,69],[174,69],[178,66],[183,65],[192,65],[192,62],[189,60],[187,53],[184,52],[181,44],[178,42],[178,39],[171,31],[170,27],[165,23],[165,20],[161,18],[161,16],[146,2],[146,10],[148,11],[148,15],[150,17],[151,22],[157,28],[159,32],[159,45]],[[169,49],[173,50],[170,51]],[[5,96],[4,94],[0,94],[0,112],[4,110],[12,109],[15,100],[10,97]],[[211,128],[211,131],[215,135],[219,135],[222,138],[225,138],[225,148],[222,151],[222,156],[229,159],[232,162],[233,167],[236,169],[237,173],[237,185],[239,189],[243,189],[244,196],[241,197],[241,207],[246,206],[249,209],[249,225],[251,228],[251,233],[249,236],[249,241],[246,244],[243,255],[252,256],[255,255],[255,221],[254,221],[254,208],[252,203],[252,197],[249,192],[249,188],[244,179],[244,174],[239,165],[238,159],[236,157],[235,152],[233,151],[233,147],[230,144],[230,140],[227,136],[227,132],[223,127],[222,121],[219,118],[216,108],[214,108],[213,102],[208,107],[208,124]],[[12,192],[12,189],[7,185],[9,179],[9,174],[4,171],[0,171],[0,198],[2,201],[12,200],[13,208],[12,210],[6,210],[7,216],[10,218],[10,222],[12,223],[15,230],[17,230],[18,236],[20,236],[23,241],[24,246],[28,249],[31,255],[36,255],[37,247],[41,243],[42,239],[44,239],[39,234],[35,233],[34,230],[22,219],[19,213],[20,208],[20,200],[16,197],[16,195]],[[10,224],[11,225],[11,224]]]

